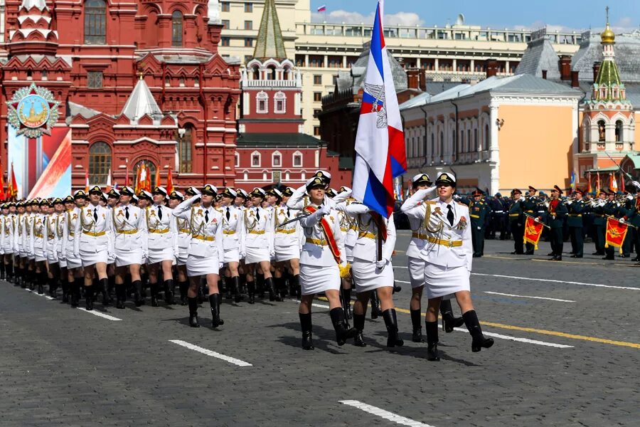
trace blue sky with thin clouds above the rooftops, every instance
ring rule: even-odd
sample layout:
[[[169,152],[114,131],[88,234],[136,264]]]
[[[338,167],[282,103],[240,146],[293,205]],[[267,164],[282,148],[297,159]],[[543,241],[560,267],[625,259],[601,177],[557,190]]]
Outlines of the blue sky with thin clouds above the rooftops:
[[[311,0],[314,21],[371,23],[377,0]],[[326,14],[314,13],[326,4]],[[469,25],[492,28],[586,30],[604,27],[607,1],[596,0],[385,0],[385,23],[444,26],[464,14]],[[639,29],[640,0],[609,2],[614,31]]]

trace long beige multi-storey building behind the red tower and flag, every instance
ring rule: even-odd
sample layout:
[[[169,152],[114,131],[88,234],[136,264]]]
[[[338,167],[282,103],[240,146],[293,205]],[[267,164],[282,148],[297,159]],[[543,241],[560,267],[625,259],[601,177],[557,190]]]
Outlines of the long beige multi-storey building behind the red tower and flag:
[[[252,57],[264,3],[220,1],[220,19],[225,25],[221,54],[238,56],[242,64]],[[319,121],[314,113],[321,110],[321,97],[334,90],[338,71],[349,70],[358,59],[363,43],[370,41],[372,23],[312,23],[309,0],[276,0],[276,5],[284,47],[302,72],[304,132],[317,136]],[[547,36],[559,55],[572,55],[582,41],[579,33]],[[525,30],[467,25],[462,16],[442,27],[385,26],[388,50],[406,68],[424,70],[427,91],[435,82],[481,80],[487,59],[498,60],[498,75],[511,75],[531,37]]]

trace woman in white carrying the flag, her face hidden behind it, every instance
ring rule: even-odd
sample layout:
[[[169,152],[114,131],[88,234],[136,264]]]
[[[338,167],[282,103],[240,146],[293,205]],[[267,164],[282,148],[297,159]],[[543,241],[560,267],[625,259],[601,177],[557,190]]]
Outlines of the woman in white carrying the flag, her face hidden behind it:
[[[356,345],[365,347],[362,331],[369,297],[377,292],[387,327],[387,347],[400,347],[398,318],[393,305],[393,265],[391,256],[395,248],[393,214],[384,218],[363,204],[353,203],[346,211],[356,217],[358,238],[353,246],[351,272],[356,282],[357,300],[353,305],[353,326],[358,330]]]

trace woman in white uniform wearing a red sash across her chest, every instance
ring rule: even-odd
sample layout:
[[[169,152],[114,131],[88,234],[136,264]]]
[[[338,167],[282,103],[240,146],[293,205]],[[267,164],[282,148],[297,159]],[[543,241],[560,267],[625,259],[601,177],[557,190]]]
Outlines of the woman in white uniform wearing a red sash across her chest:
[[[304,194],[309,193],[309,205],[302,214],[310,214],[300,220],[304,233],[304,246],[300,254],[300,285],[302,297],[298,310],[302,327],[302,348],[314,349],[311,325],[311,303],[314,295],[324,292],[329,300],[329,315],[336,330],[336,342],[343,345],[357,334],[356,328],[347,329],[344,310],[340,304],[340,282],[348,274],[344,253],[343,234],[338,222],[338,211],[324,204],[329,183],[324,177],[314,176],[294,191],[287,206],[297,206]]]

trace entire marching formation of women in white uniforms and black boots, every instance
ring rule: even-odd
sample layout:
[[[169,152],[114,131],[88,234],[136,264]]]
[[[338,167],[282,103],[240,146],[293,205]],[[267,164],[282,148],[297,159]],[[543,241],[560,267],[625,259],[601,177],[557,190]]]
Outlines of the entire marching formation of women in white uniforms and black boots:
[[[151,194],[134,194],[127,186],[105,194],[93,186],[88,194],[76,191],[65,199],[7,203],[0,217],[2,275],[41,293],[48,284],[54,297],[60,285],[63,302],[70,300],[74,307],[83,293],[86,310],[93,309],[97,292],[104,305],[114,292],[118,309],[132,292],[140,306],[147,281],[151,305],[158,305],[161,288],[173,304],[176,280],[191,327],[200,326],[199,293],[208,293],[212,325],[219,327],[224,325],[219,285],[224,283],[236,302],[246,293],[253,303],[260,280],[272,301],[287,292],[299,298],[304,349],[314,349],[311,302],[320,293],[329,300],[338,345],[353,339],[356,346],[366,346],[363,330],[371,300],[372,316],[385,321],[388,347],[401,346],[393,305],[393,215],[385,218],[359,204],[346,187],[330,189],[330,181],[330,174],[318,171],[298,189],[257,188],[250,194],[231,188],[218,194],[210,184],[189,187],[185,194],[168,194],[161,186]],[[418,174],[414,194],[402,205],[413,231],[407,249],[412,337],[423,342],[426,290],[430,360],[439,360],[438,312],[446,332],[466,325],[474,352],[493,344],[482,334],[471,302],[472,220],[468,206],[454,201],[455,186],[452,174],[439,175],[435,186],[427,174]],[[452,297],[462,317],[454,317]]]

